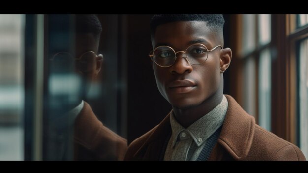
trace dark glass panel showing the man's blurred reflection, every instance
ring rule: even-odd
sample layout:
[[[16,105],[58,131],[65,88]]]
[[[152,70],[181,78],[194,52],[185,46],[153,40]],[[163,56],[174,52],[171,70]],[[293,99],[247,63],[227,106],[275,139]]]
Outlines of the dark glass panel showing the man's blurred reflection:
[[[117,16],[101,17],[114,23],[101,26],[105,21],[93,15],[45,16],[43,160],[124,157],[126,141],[116,134]]]

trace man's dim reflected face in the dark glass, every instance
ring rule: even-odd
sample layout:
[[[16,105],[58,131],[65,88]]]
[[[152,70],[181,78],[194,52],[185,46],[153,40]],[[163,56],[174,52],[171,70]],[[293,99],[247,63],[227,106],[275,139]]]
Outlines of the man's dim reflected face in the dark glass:
[[[96,57],[92,59],[92,54],[87,54],[87,52],[97,52],[97,40],[90,33],[76,33],[72,50],[64,47],[62,51],[59,51],[58,55],[56,54],[58,57],[54,57],[54,61],[51,61],[50,90],[53,93],[55,103],[63,103],[63,106],[59,107],[59,109],[66,111],[80,104],[81,99],[84,99],[89,90],[91,81],[98,72],[96,70],[97,63],[94,61]],[[67,42],[69,41],[71,40],[67,40]],[[82,55],[85,57],[84,60],[75,60]],[[84,69],[91,70],[84,72]],[[56,90],[59,87],[61,90]],[[63,98],[69,98],[70,100],[65,102]]]

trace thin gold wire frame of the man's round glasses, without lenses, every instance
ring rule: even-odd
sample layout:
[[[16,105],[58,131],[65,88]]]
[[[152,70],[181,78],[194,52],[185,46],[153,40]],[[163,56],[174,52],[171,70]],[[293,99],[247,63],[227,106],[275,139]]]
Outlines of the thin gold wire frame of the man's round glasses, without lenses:
[[[202,45],[202,46],[204,46],[205,47],[205,49],[207,50],[207,57],[206,57],[206,59],[205,59],[205,61],[204,62],[202,62],[201,64],[192,64],[191,62],[189,62],[189,60],[188,60],[188,58],[187,58],[187,56],[186,56],[186,51],[188,50],[188,48],[190,48],[191,46],[194,46],[194,45]],[[155,61],[155,59],[154,59],[154,51],[156,50],[156,49],[158,49],[158,48],[160,48],[160,47],[168,47],[168,48],[170,48],[171,50],[173,50],[173,52],[174,52],[174,62],[171,64],[171,65],[169,65],[169,66],[161,66],[161,65],[159,65],[156,61]],[[186,49],[185,49],[185,51],[175,51],[172,47],[170,47],[170,46],[158,46],[158,47],[156,47],[153,51],[150,51],[150,53],[149,53],[149,57],[152,59],[152,60],[154,60],[154,62],[155,62],[155,64],[157,64],[158,66],[160,66],[160,67],[171,67],[172,65],[174,65],[174,63],[175,63],[175,61],[176,61],[176,59],[178,58],[177,57],[177,54],[178,53],[184,53],[184,57],[185,57],[185,60],[190,64],[190,65],[195,65],[195,66],[198,66],[198,65],[202,65],[203,63],[205,63],[206,61],[207,61],[207,59],[208,59],[208,56],[209,56],[209,52],[212,52],[212,51],[214,51],[216,48],[218,48],[218,47],[221,47],[221,49],[223,49],[223,47],[221,46],[221,45],[218,45],[218,46],[216,46],[216,47],[214,47],[213,49],[208,49],[204,44],[201,44],[201,43],[194,43],[194,44],[191,44],[191,45],[189,45]],[[151,54],[151,52],[152,52],[152,54]]]

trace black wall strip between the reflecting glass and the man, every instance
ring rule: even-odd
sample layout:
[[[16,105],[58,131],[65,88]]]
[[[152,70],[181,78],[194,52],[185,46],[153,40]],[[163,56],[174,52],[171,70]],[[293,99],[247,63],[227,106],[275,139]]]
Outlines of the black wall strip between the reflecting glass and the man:
[[[151,59],[149,22],[152,15],[127,16],[128,143],[156,126],[171,110],[159,93]]]

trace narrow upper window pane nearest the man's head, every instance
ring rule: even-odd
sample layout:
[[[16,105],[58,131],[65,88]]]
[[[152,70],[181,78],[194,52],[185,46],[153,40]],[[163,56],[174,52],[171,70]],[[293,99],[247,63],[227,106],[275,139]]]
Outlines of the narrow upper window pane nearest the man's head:
[[[243,16],[243,25],[242,25],[242,54],[249,53],[255,48],[255,14],[244,14]]]

